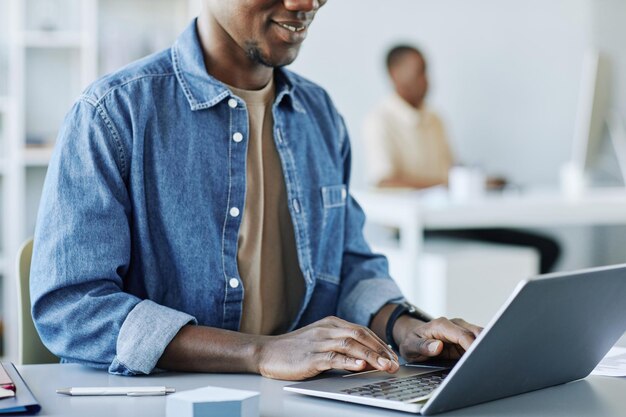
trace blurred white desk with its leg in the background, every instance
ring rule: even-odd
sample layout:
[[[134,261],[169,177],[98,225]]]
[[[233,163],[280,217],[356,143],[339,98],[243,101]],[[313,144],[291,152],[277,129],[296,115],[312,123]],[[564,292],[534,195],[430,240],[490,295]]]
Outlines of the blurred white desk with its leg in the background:
[[[623,188],[588,190],[578,198],[566,197],[558,190],[502,192],[463,202],[451,201],[445,188],[356,190],[353,195],[368,223],[399,231],[399,244],[394,250],[404,269],[394,278],[408,294],[423,293],[418,262],[424,230],[626,225]]]

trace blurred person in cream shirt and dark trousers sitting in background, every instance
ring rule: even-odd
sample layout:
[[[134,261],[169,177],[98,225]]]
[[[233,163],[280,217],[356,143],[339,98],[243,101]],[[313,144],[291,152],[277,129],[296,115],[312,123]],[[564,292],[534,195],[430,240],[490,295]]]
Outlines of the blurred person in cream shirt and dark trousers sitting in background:
[[[368,180],[380,188],[445,186],[455,160],[443,122],[425,100],[428,71],[424,54],[414,46],[398,45],[387,53],[386,63],[394,91],[368,115],[363,126]],[[505,185],[501,178],[486,181],[489,188]],[[529,246],[539,253],[541,273],[554,269],[561,252],[554,239],[521,230],[427,231],[426,236]]]

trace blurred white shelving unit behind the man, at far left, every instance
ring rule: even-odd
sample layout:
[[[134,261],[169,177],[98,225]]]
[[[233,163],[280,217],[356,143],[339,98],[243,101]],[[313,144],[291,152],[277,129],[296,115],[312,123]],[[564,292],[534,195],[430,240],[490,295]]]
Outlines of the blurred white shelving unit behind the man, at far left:
[[[7,80],[0,80],[0,87],[6,85],[8,90],[0,88],[4,359],[17,358],[15,258],[22,242],[33,235],[41,188],[65,114],[98,76],[170,46],[200,4],[201,0],[0,0],[0,58],[3,52],[8,56]],[[8,32],[5,46],[2,30]]]

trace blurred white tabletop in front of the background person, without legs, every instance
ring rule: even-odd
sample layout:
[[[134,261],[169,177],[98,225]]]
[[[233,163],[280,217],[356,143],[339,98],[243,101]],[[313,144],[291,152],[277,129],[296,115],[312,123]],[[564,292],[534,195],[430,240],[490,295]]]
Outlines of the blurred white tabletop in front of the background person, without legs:
[[[626,189],[596,189],[580,196],[557,189],[493,192],[454,201],[445,188],[424,191],[357,190],[365,213],[390,226],[398,212],[414,213],[423,229],[610,225],[626,223]],[[389,224],[391,223],[391,224]]]

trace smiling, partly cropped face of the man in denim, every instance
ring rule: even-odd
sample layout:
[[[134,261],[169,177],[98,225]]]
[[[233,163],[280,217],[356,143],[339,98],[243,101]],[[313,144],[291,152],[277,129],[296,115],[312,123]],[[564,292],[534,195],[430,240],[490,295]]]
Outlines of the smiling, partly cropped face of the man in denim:
[[[204,0],[221,53],[246,56],[267,67],[291,64],[315,13],[327,0]]]

